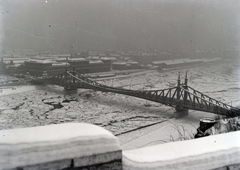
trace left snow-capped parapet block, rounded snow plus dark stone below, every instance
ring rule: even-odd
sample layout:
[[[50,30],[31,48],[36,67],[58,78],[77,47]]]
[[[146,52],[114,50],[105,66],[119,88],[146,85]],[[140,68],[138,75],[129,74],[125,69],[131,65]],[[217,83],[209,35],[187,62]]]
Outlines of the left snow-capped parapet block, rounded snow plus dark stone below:
[[[0,170],[121,169],[118,139],[86,123],[66,123],[0,131]],[[114,168],[111,168],[114,166]]]

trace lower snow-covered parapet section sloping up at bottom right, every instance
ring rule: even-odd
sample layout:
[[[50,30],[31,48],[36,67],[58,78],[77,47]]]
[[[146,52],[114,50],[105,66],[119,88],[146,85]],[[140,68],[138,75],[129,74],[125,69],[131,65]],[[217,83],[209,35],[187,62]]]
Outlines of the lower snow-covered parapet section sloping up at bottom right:
[[[124,170],[240,169],[240,132],[123,152]]]

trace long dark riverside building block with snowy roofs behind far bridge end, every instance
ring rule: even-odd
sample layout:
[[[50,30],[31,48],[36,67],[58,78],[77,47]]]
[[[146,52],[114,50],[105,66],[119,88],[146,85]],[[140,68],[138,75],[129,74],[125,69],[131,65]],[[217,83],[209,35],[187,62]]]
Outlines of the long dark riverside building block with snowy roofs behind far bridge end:
[[[73,68],[80,74],[107,72],[111,70],[112,61],[112,58],[107,57],[98,60],[86,58],[30,59],[25,61],[24,70],[34,76],[41,76],[44,71],[50,76],[57,75],[66,69],[72,70]]]

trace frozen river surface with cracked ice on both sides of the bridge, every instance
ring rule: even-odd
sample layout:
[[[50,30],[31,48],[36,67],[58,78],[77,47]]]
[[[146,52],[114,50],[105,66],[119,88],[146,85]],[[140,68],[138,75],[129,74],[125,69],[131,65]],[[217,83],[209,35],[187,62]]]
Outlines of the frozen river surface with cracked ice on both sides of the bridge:
[[[179,71],[182,81],[188,71],[189,85],[194,89],[233,106],[240,105],[238,63],[163,72],[151,70],[99,82],[127,89],[164,89],[176,85]],[[175,119],[174,109],[160,103],[93,90],[79,89],[77,94],[69,94],[58,86],[16,88],[2,89],[0,93],[0,129],[87,122],[117,135],[123,149],[189,138],[196,132],[200,118],[214,116],[189,111],[188,117]]]

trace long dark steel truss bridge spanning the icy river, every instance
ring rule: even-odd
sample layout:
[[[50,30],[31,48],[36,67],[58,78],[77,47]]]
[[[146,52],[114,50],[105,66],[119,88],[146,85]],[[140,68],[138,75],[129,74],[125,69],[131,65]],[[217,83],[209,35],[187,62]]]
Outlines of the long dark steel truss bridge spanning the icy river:
[[[66,70],[66,72],[56,76],[43,76],[42,78],[33,79],[32,82],[59,85],[65,89],[94,89],[133,96],[174,107],[176,112],[182,112],[183,114],[188,113],[188,110],[196,110],[226,117],[240,116],[240,109],[211,98],[188,86],[187,73],[184,83],[181,83],[179,74],[176,87],[162,90],[128,90],[110,87],[86,78],[74,69],[73,71]]]

